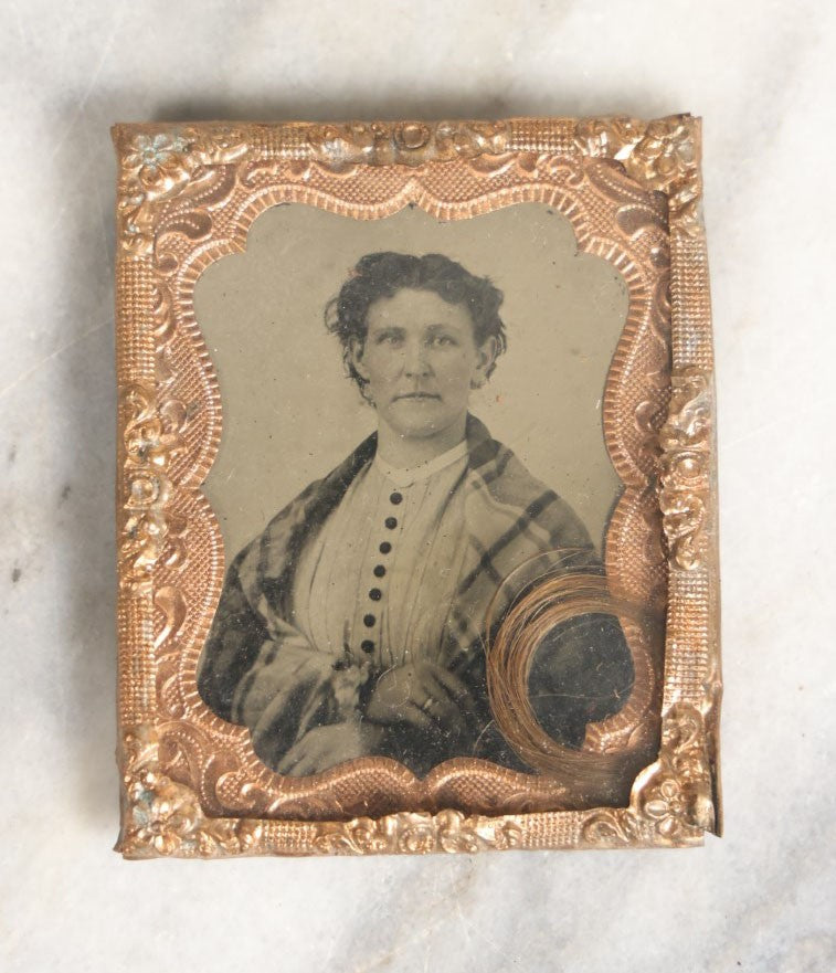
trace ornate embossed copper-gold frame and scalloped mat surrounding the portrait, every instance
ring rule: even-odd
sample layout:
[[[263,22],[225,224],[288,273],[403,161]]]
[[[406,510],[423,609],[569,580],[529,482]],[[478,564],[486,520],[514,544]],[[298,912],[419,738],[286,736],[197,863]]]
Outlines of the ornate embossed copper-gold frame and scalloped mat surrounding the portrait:
[[[717,495],[699,120],[119,125],[114,141],[117,849],[128,858],[474,852],[686,846],[718,834]],[[665,612],[657,759],[624,807],[543,810],[550,792],[532,784],[516,806],[504,802],[514,813],[465,813],[455,807],[467,806],[466,766],[427,779],[422,791],[391,772],[381,782],[374,759],[329,772],[319,791],[282,796],[276,775],[254,775],[243,738],[219,743],[229,727],[200,713],[189,684],[223,575],[220,531],[200,493],[220,441],[221,400],[194,320],[194,283],[212,261],[244,250],[253,220],[282,201],[358,219],[412,203],[463,219],[527,200],[560,209],[579,245],[628,283],[604,403],[607,448],[625,485],[607,575]],[[617,747],[628,729],[624,720],[599,728],[588,745]],[[393,789],[406,806],[411,795],[430,795],[436,810],[328,813],[329,789],[342,787],[350,807],[362,781]]]

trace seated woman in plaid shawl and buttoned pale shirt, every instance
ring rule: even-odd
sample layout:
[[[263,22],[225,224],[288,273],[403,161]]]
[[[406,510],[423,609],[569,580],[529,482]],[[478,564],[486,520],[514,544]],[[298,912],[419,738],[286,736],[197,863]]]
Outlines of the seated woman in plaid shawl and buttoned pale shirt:
[[[544,573],[600,562],[570,506],[469,412],[506,349],[501,303],[446,256],[384,252],[326,309],[377,432],[232,561],[198,673],[278,773],[360,757],[529,770],[491,717],[487,626]],[[543,639],[529,695],[579,748],[632,684],[617,623],[590,616]]]

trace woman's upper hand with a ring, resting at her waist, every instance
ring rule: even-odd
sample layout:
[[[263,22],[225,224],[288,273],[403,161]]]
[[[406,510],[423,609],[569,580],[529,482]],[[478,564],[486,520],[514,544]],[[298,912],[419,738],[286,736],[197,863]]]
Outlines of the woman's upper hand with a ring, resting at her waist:
[[[420,730],[454,730],[466,736],[474,702],[464,683],[433,663],[410,663],[388,669],[378,679],[366,707],[375,723],[410,723]]]

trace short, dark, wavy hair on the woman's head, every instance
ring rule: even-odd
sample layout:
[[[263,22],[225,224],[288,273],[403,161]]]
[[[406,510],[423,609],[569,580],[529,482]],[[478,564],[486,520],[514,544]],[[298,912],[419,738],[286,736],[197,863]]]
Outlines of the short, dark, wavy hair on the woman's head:
[[[325,325],[340,339],[346,370],[360,387],[360,392],[363,392],[367,382],[351,360],[352,343],[366,340],[366,316],[371,305],[381,297],[392,297],[404,287],[433,290],[448,304],[463,305],[470,313],[476,345],[480,346],[494,337],[497,357],[505,351],[505,325],[499,317],[502,292],[487,277],[475,277],[462,264],[440,253],[424,256],[369,253],[358,261],[351,277],[325,309]],[[496,359],[486,377],[495,367]]]

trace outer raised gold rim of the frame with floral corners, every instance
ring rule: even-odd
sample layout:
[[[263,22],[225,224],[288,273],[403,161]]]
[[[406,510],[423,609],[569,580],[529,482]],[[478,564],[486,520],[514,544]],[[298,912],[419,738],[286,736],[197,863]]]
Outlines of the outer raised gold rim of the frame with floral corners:
[[[705,233],[699,214],[700,128],[690,116],[511,119],[488,123],[117,126],[117,370],[119,382],[119,719],[126,857],[241,854],[434,852],[484,848],[681,846],[719,833],[717,723],[720,676],[712,353]],[[668,600],[662,747],[623,808],[467,816],[403,812],[350,822],[210,817],[197,792],[173,780],[160,757],[154,645],[183,606],[160,585],[162,560],[178,558],[181,515],[172,487],[199,485],[220,435],[220,396],[205,368],[203,450],[188,448],[187,416],[160,395],[169,380],[167,233],[205,232],[194,201],[221,198],[213,171],[244,158],[290,160],[300,179],[320,169],[422,167],[507,157],[615,160],[668,204],[673,367],[668,420],[659,435],[659,507],[668,543]],[[202,194],[202,195],[201,195]],[[183,200],[179,207],[178,200]],[[396,203],[393,203],[395,209]],[[162,219],[165,214],[165,219]],[[163,274],[165,277],[165,274]],[[193,320],[181,321],[197,332]],[[194,445],[192,442],[191,445]],[[197,458],[195,458],[197,457]],[[203,503],[200,516],[211,518]],[[205,592],[213,604],[218,591]],[[161,613],[163,622],[160,623]],[[205,634],[205,633],[203,633]],[[150,646],[150,652],[148,651]]]

